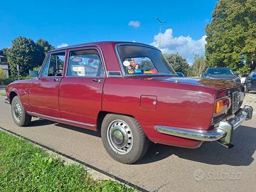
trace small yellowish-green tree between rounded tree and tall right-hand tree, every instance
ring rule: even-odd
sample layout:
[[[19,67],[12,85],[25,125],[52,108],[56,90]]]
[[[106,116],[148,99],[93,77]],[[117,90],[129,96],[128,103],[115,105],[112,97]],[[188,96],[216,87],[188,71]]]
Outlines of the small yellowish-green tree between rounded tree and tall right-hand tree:
[[[188,75],[192,77],[199,77],[201,73],[205,72],[206,68],[206,58],[200,55],[195,55],[193,58],[193,65],[191,65],[188,70]]]

